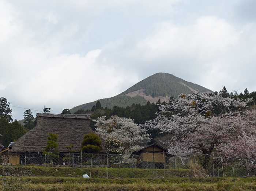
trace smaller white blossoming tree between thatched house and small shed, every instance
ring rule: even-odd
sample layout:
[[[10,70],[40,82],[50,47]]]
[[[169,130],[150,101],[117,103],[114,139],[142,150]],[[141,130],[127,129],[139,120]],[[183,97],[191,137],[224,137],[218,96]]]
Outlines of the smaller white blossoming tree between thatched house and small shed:
[[[133,146],[150,141],[150,135],[146,133],[147,129],[135,124],[132,119],[112,116],[106,120],[105,117],[93,120],[96,122],[95,132],[105,140],[114,138],[121,141],[121,154]]]

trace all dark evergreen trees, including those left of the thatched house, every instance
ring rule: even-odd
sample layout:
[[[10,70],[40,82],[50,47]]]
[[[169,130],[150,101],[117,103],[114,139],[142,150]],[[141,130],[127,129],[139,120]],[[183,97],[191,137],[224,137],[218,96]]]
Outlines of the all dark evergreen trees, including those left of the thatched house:
[[[249,91],[245,89],[244,93],[240,94],[237,94],[237,92],[228,93],[226,88],[223,87],[219,93],[221,93],[222,97],[230,97],[234,100],[247,100],[248,98],[252,98],[253,101],[248,103],[248,106],[255,108],[256,91],[249,93]],[[209,95],[217,95],[219,93],[215,91]],[[170,99],[173,99],[173,97]],[[97,101],[96,104],[91,107],[91,109],[80,109],[74,114],[91,114],[90,126],[92,129],[95,128],[94,125],[96,124],[93,120],[96,120],[97,117],[101,116],[106,116],[106,120],[112,116],[131,118],[135,124],[144,124],[147,121],[154,120],[157,117],[156,113],[159,112],[161,105],[165,104],[165,102],[161,103],[159,100],[157,103],[150,103],[148,101],[145,102],[144,105],[133,103],[126,107],[113,106],[113,108],[108,108],[107,106],[101,104],[101,102]],[[9,105],[10,103],[6,98],[0,98],[0,143],[5,148],[8,147],[10,142],[16,141],[26,132],[33,129],[36,124],[36,120],[34,119],[30,109],[24,112],[24,125],[19,124],[17,120],[13,121],[11,116],[12,110],[10,109]],[[218,110],[218,108],[215,109]],[[49,110],[50,108],[45,108],[44,112],[48,113]],[[62,114],[71,114],[71,112],[69,109],[64,109]],[[150,137],[152,139],[150,143],[155,142],[156,137],[165,135],[165,133],[163,133],[161,130],[152,128],[148,128],[147,133],[151,134]]]

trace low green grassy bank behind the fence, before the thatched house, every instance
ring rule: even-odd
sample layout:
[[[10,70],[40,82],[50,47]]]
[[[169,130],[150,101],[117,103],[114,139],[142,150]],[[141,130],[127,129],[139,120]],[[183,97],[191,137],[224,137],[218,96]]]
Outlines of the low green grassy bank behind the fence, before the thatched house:
[[[1,166],[0,166],[1,167]],[[141,169],[141,168],[81,168],[72,167],[39,167],[18,166],[13,167],[12,176],[60,176],[82,177],[88,174],[90,178],[173,178],[189,177],[189,169]]]

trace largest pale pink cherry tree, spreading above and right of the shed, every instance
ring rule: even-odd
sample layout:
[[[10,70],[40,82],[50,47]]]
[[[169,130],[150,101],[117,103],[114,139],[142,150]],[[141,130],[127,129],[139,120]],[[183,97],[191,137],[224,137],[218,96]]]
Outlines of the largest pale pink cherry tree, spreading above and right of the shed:
[[[181,94],[159,106],[155,120],[144,127],[170,133],[169,153],[204,154],[203,167],[214,148],[248,125],[242,109],[252,99],[234,100],[220,94]]]

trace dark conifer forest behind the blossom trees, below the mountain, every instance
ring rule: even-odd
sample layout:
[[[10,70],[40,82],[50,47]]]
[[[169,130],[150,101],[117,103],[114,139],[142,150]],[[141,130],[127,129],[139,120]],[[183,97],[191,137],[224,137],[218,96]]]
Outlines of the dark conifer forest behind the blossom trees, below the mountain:
[[[244,90],[244,93],[238,94],[236,91],[234,93],[228,93],[226,88],[223,87],[219,93],[215,91],[209,95],[217,95],[221,94],[222,97],[232,98],[234,100],[242,99],[248,100],[248,98],[252,98],[252,102],[248,103],[248,106],[251,108],[255,108],[255,100],[256,100],[256,91],[249,93],[247,89]],[[171,97],[170,99],[173,99]],[[159,112],[159,107],[161,105],[165,105],[166,102],[160,102],[158,100],[157,103],[150,103],[149,101],[145,105],[140,104],[132,104],[131,106],[127,106],[126,108],[114,106],[112,109],[101,106],[101,102],[97,101],[97,103],[91,108],[91,110],[78,110],[74,114],[91,114],[90,126],[93,130],[95,130],[95,124],[93,120],[96,120],[98,117],[106,116],[106,120],[108,120],[112,116],[131,118],[136,124],[144,124],[147,121],[152,121],[156,118],[157,112]],[[219,108],[215,107],[214,110],[218,113]],[[158,142],[157,138],[165,136],[167,133],[163,132],[159,129],[148,128],[147,133],[150,134],[151,141],[149,144]]]

